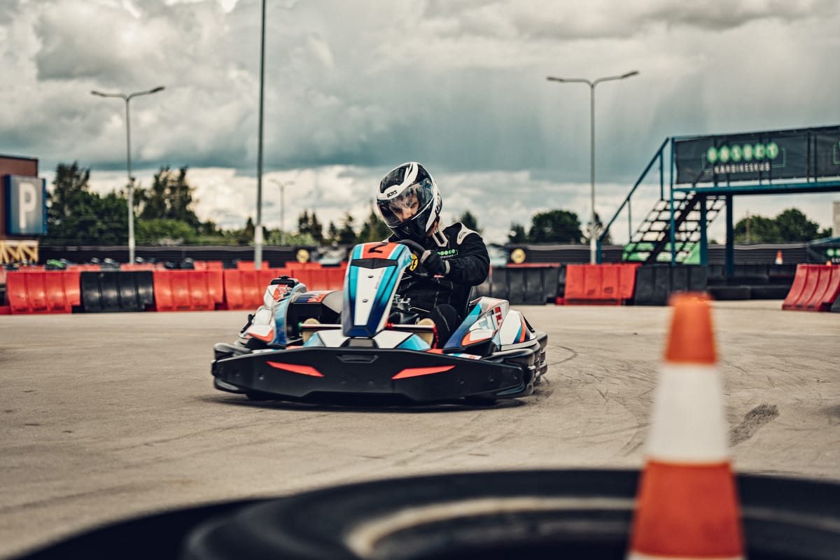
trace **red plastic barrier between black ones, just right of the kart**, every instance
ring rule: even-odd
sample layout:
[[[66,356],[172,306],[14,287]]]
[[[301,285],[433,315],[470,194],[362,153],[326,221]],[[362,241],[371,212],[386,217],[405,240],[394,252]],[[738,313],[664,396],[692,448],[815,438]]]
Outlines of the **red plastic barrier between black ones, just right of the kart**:
[[[620,306],[633,296],[634,272],[622,264],[568,264],[565,303]]]

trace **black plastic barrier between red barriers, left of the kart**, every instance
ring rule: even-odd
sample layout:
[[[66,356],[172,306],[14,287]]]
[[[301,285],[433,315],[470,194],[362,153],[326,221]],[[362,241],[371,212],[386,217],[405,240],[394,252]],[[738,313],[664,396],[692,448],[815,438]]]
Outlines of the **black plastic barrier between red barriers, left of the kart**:
[[[155,304],[151,270],[81,272],[81,311],[146,311]]]

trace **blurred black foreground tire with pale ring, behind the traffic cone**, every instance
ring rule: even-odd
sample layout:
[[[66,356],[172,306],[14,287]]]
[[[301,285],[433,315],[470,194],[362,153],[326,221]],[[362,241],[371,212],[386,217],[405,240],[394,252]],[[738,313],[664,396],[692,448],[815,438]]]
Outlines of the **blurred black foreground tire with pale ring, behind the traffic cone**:
[[[182,560],[623,558],[638,474],[449,474],[351,484],[207,522]],[[747,556],[836,558],[840,484],[741,475]]]

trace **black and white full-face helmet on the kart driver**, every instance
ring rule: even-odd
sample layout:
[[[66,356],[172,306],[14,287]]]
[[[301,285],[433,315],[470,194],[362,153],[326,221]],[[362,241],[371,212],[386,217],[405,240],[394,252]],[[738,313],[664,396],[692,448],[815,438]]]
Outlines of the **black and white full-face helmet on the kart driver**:
[[[422,241],[440,217],[438,184],[416,161],[388,171],[379,184],[376,206],[397,238]]]

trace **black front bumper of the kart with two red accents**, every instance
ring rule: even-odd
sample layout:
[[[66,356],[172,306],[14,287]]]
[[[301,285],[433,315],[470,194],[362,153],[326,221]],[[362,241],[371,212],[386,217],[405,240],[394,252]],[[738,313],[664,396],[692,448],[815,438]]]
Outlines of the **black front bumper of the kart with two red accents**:
[[[292,399],[318,394],[403,395],[417,402],[508,398],[533,390],[533,349],[496,361],[392,348],[294,348],[213,361],[215,385]]]

